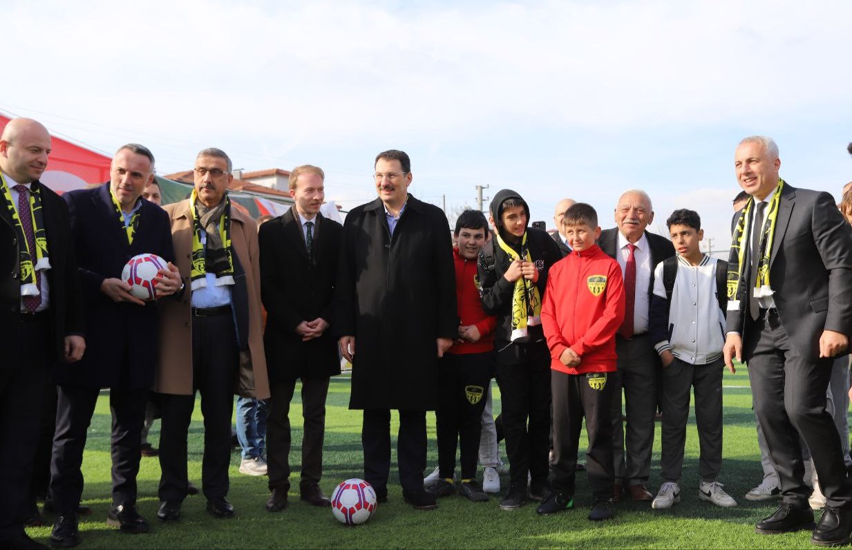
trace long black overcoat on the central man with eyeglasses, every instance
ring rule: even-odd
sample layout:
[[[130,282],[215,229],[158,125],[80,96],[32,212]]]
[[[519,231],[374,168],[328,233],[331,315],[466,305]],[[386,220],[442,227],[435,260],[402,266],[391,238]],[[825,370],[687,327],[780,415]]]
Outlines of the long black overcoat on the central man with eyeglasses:
[[[409,195],[391,238],[381,199],[343,225],[337,335],[355,337],[350,409],[435,410],[435,339],[458,335],[443,211]]]

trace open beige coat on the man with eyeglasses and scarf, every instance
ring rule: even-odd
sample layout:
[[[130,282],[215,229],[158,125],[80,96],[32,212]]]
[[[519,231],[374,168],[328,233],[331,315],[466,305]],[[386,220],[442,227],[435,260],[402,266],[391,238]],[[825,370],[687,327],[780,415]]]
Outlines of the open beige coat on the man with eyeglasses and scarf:
[[[180,301],[164,299],[158,303],[160,314],[160,353],[154,391],[176,395],[193,393],[192,315],[189,289],[190,258],[193,251],[193,218],[189,199],[164,206],[171,222],[177,267],[186,289]],[[269,397],[266,356],[263,352],[261,280],[257,226],[239,209],[231,209],[231,243],[245,270],[249,295],[249,349],[240,352],[239,379],[234,393],[243,397]]]

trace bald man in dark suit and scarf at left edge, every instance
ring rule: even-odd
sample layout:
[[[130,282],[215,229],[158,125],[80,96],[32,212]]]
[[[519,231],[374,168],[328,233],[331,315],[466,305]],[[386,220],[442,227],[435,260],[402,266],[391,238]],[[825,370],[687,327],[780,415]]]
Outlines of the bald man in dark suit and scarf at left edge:
[[[65,203],[44,186],[50,135],[14,118],[0,136],[0,547],[43,548],[24,531],[44,385],[83,357],[83,309]],[[38,208],[33,208],[37,206]],[[22,215],[23,214],[23,215]]]

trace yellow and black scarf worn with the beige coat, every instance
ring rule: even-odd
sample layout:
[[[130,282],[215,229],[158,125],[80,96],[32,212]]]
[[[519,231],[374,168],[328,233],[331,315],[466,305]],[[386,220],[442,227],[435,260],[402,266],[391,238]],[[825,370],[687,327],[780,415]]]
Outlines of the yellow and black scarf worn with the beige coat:
[[[233,284],[233,247],[231,246],[231,200],[227,194],[216,208],[205,209],[196,204],[197,194],[189,198],[193,215],[193,269],[190,286],[193,290],[207,286],[207,272],[216,273],[216,286]],[[199,209],[203,210],[199,212]],[[201,244],[201,230],[207,232],[206,245]]]

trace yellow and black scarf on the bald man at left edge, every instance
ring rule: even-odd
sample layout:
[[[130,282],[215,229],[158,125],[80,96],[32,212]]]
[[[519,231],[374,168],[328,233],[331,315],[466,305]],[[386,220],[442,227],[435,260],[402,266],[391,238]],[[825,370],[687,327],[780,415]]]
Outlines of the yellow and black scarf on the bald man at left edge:
[[[32,232],[36,238],[36,249],[31,250],[29,243],[26,241],[24,227],[20,225],[20,217],[18,210],[12,202],[12,192],[9,191],[9,184],[6,178],[0,173],[0,181],[3,182],[3,198],[6,201],[6,207],[9,209],[9,214],[14,220],[14,228],[18,233],[18,247],[20,251],[20,295],[22,296],[37,296],[38,286],[36,284],[36,271],[44,271],[50,269],[50,260],[48,257],[48,237],[44,231],[44,215],[42,211],[42,198],[38,186],[31,184],[30,192],[30,215],[32,216]],[[35,255],[35,262],[32,261]]]

